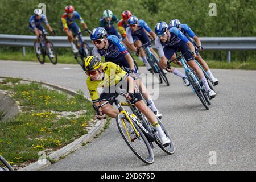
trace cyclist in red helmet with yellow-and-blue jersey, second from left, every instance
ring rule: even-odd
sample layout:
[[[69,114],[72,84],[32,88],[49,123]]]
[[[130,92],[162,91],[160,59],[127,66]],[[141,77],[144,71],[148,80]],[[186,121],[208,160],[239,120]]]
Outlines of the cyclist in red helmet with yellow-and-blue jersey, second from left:
[[[73,6],[66,6],[65,12],[66,13],[61,16],[61,27],[63,28],[63,31],[68,35],[68,42],[71,43],[73,53],[77,53],[79,52],[79,50],[77,49],[76,44],[73,43],[73,34],[77,34],[81,32],[81,30],[79,26],[77,26],[75,20],[78,19],[80,21],[80,23],[84,27],[84,30],[87,31],[88,35],[90,35],[90,31],[88,30],[87,25],[80,16],[80,14],[75,11]],[[82,35],[80,34],[79,36],[79,39],[82,40]]]

